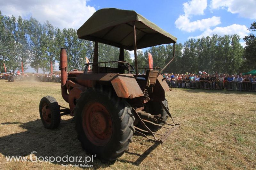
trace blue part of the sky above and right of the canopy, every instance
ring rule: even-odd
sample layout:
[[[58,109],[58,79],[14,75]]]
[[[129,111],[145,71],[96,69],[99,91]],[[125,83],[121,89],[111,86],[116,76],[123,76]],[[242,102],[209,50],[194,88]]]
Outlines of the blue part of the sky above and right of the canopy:
[[[197,15],[194,15],[191,12],[189,14],[188,18],[190,19],[190,22],[196,21],[196,20],[202,20],[202,19],[207,19],[207,18],[212,18],[212,17],[220,17],[220,24],[216,24],[213,26],[210,26],[209,28],[213,30],[216,27],[222,27],[223,31],[210,31],[209,33],[219,33],[222,35],[223,33],[227,34],[233,34],[236,31],[234,30],[236,27],[239,28],[239,26],[245,26],[242,28],[245,28],[241,32],[237,32],[240,34],[240,36],[244,37],[245,34],[248,34],[249,31],[246,30],[248,26],[256,19],[255,17],[255,7],[256,7],[256,1],[255,0],[231,0],[231,1],[226,1],[221,0],[223,3],[221,5],[220,1],[212,1],[212,0],[196,0],[194,1],[196,5],[193,4],[193,1],[188,1],[188,0],[183,0],[183,1],[177,1],[177,0],[162,0],[162,1],[146,1],[146,0],[129,0],[129,1],[107,1],[107,0],[90,0],[87,2],[87,5],[93,6],[96,10],[101,9],[101,8],[120,8],[120,9],[127,9],[127,10],[134,10],[144,17],[148,18],[150,21],[156,23],[156,25],[160,26],[167,32],[173,34],[178,38],[178,42],[184,43],[185,41],[188,40],[188,38],[200,38],[200,36],[203,35],[208,35],[207,32],[204,32],[202,30],[196,29],[195,31],[188,32],[185,30],[179,29],[175,21],[180,17],[180,15],[183,15],[184,12],[184,3],[188,4],[188,8],[192,9],[195,8],[196,11],[202,11],[202,13],[198,13]],[[252,16],[249,16],[247,14],[244,14],[243,9],[242,10],[237,10],[237,6],[244,4],[244,7],[242,6],[241,8],[245,8],[245,11],[250,11]],[[219,5],[215,5],[215,4]],[[229,4],[232,3],[232,4]],[[205,5],[206,4],[206,5]],[[212,7],[214,5],[214,7]],[[251,6],[252,8],[248,9],[247,7]],[[228,11],[228,8],[231,8],[231,10]],[[204,9],[204,10],[202,10]],[[232,9],[234,9],[232,11]],[[231,12],[230,12],[231,11]],[[236,24],[236,25],[234,25]],[[231,31],[232,27],[225,30],[224,28],[227,26],[234,25],[234,31]],[[185,28],[186,29],[186,28]],[[207,29],[207,26],[206,28]],[[204,28],[203,28],[204,30]],[[211,35],[211,34],[209,34]]]

